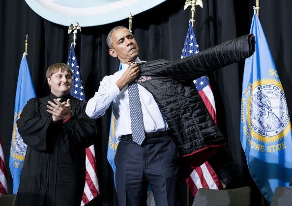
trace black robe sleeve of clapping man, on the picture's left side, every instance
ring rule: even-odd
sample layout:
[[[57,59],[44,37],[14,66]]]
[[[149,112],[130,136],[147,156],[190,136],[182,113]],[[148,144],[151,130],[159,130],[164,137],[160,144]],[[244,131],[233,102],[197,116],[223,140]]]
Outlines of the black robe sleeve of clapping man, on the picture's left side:
[[[50,145],[56,141],[54,136],[49,134],[51,131],[59,130],[61,124],[54,123],[50,115],[36,117],[37,104],[37,99],[32,98],[25,105],[17,120],[18,132],[29,147],[40,152],[47,152]]]

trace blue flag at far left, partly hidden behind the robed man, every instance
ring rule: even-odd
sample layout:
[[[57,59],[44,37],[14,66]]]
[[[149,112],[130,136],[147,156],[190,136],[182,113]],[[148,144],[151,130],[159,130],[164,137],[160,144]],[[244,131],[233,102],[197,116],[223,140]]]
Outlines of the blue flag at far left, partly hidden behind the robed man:
[[[35,97],[35,92],[32,84],[32,80],[29,73],[29,65],[27,62],[26,54],[23,54],[20,62],[15,103],[14,103],[14,120],[12,140],[10,147],[9,168],[13,179],[13,194],[17,193],[20,173],[22,170],[23,162],[27,152],[27,145],[23,142],[22,137],[18,133],[16,120],[22,112],[23,107],[27,104],[29,99]]]

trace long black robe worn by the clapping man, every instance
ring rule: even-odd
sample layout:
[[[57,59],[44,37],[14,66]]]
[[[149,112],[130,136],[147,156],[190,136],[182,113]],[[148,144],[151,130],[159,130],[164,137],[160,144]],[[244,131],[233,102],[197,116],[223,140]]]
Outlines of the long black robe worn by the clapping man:
[[[48,101],[32,98],[24,107],[18,131],[28,145],[16,197],[16,206],[80,206],[85,185],[85,149],[96,138],[95,121],[85,113],[86,103],[70,98],[71,118],[53,122]]]

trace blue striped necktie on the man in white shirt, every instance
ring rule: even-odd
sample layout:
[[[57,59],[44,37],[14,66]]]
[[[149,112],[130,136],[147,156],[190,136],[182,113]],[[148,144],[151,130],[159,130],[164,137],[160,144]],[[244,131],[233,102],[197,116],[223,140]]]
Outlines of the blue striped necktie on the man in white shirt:
[[[137,83],[130,83],[128,86],[130,118],[133,141],[141,145],[145,139],[142,107],[139,98],[139,90]]]

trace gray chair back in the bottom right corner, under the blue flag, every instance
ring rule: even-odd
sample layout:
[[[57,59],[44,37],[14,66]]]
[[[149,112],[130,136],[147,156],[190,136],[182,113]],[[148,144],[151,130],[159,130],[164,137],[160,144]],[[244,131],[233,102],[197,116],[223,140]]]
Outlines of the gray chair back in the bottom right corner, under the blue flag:
[[[276,187],[271,206],[292,206],[292,187]]]

